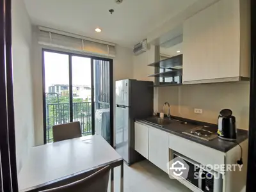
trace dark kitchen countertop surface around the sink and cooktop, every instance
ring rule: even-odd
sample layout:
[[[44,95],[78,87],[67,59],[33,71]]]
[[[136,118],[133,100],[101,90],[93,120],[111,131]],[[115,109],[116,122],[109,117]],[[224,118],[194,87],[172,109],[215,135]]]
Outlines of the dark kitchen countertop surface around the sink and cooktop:
[[[154,116],[151,118],[158,118],[158,117]],[[147,118],[147,119],[149,119],[149,118]],[[136,119],[136,122],[141,122],[143,124],[147,124],[150,127],[156,127],[157,129],[160,129],[162,131],[170,132],[171,134],[175,134],[175,135],[185,138],[187,140],[195,141],[196,143],[200,143],[207,147],[214,148],[221,152],[228,152],[228,150],[232,149],[233,147],[236,147],[237,143],[242,143],[244,140],[246,140],[248,138],[248,131],[243,130],[243,129],[237,129],[236,143],[232,142],[232,141],[221,140],[220,138],[215,138],[214,140],[211,140],[211,141],[201,140],[199,138],[189,136],[188,134],[184,134],[184,133],[182,133],[182,131],[188,131],[189,129],[193,129],[198,125],[207,125],[207,126],[210,126],[211,130],[216,130],[216,132],[217,132],[218,125],[209,124],[209,123],[205,123],[205,122],[196,122],[195,120],[188,120],[188,119],[178,118],[178,117],[175,119],[182,120],[184,122],[188,122],[188,124],[181,124],[180,122],[172,121],[171,124],[163,125],[163,127],[161,127],[161,126],[150,124],[150,123],[146,122],[145,121],[146,119],[141,119],[141,120]]]

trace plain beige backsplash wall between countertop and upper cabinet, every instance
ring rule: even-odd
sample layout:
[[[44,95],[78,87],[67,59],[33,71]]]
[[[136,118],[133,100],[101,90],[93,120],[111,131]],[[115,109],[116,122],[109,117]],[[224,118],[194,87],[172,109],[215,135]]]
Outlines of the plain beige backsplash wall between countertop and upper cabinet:
[[[221,109],[228,108],[236,116],[237,128],[248,130],[249,97],[249,82],[166,86],[158,88],[158,111],[168,101],[173,116],[217,124]],[[195,108],[203,113],[194,113]]]

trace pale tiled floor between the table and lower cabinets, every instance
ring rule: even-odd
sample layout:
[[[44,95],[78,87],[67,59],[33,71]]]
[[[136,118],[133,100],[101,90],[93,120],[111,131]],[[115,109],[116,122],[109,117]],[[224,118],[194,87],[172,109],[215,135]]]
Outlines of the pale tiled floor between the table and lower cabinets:
[[[115,168],[115,192],[119,191],[120,168]],[[124,164],[124,192],[191,192],[149,161]]]

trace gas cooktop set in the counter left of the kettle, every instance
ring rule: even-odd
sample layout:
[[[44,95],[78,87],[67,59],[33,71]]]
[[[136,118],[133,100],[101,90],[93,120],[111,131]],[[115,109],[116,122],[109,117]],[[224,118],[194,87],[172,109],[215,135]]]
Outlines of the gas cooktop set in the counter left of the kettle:
[[[182,133],[206,141],[211,141],[218,137],[217,133],[209,131],[209,127],[207,126],[198,126],[193,129],[189,129],[188,131],[183,131]]]

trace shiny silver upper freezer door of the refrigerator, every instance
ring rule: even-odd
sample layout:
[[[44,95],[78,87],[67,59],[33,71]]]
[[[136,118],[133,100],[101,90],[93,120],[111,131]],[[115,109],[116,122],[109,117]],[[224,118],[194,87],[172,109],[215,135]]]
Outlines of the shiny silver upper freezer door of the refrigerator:
[[[116,81],[116,104],[129,106],[129,79]]]

